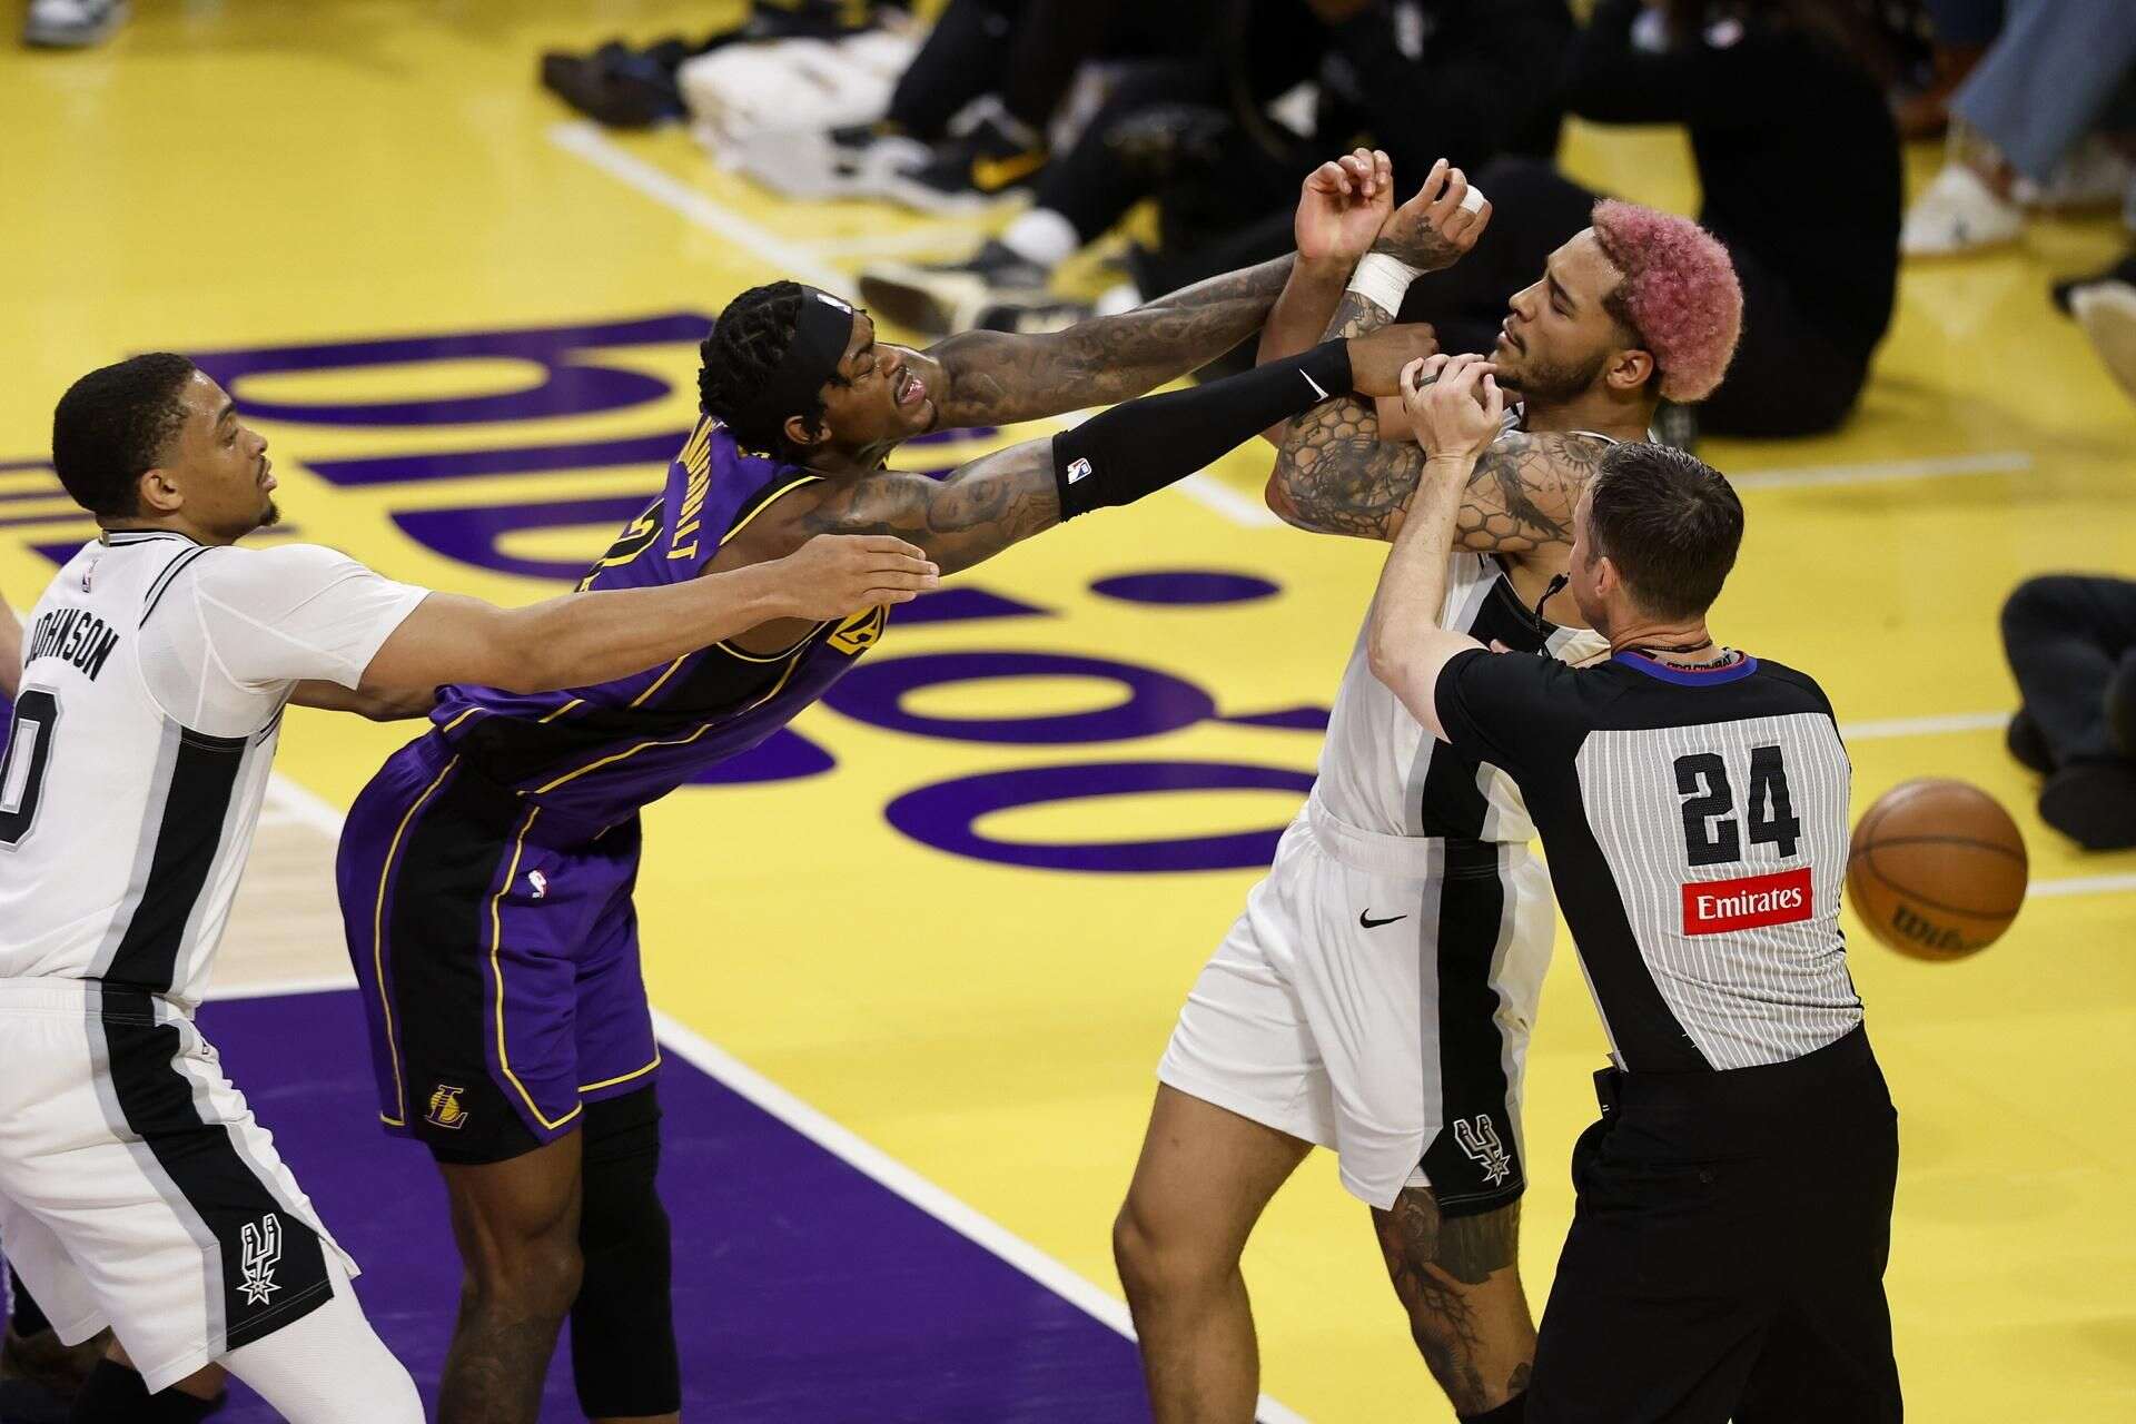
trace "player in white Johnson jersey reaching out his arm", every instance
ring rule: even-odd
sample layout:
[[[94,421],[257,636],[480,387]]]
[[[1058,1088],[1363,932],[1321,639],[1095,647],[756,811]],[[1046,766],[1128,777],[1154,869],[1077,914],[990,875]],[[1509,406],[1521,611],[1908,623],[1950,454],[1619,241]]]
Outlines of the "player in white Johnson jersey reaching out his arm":
[[[77,1424],[201,1418],[211,1364],[293,1424],[417,1424],[355,1264],[192,1025],[286,702],[598,683],[767,617],[904,602],[933,566],[820,538],[504,611],[312,544],[237,549],[276,521],[267,442],[175,354],[81,378],[53,468],[105,534],[30,611],[0,760],[0,1240],[62,1341],[117,1336]]]

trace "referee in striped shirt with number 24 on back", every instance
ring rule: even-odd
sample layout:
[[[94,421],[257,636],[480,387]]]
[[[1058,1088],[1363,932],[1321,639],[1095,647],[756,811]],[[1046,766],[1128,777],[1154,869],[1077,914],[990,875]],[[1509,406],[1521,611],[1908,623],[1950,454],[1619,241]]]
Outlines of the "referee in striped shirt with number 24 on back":
[[[1433,455],[1371,666],[1427,730],[1519,781],[1611,1040],[1527,1420],[1899,1420],[1899,1123],[1839,931],[1848,754],[1816,681],[1707,632],[1743,506],[1690,455],[1608,450],[1574,515],[1570,594],[1611,660],[1493,653],[1435,615],[1504,401],[1480,357],[1412,365],[1403,401]]]

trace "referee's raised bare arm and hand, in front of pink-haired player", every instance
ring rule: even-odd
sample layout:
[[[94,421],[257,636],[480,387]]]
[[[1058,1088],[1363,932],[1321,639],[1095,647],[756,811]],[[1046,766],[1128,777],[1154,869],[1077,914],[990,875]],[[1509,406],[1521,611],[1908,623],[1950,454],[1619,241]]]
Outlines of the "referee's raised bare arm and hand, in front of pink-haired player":
[[[1425,482],[1395,547],[1380,570],[1380,591],[1365,623],[1365,660],[1410,715],[1446,739],[1438,711],[1440,670],[1465,649],[1482,647],[1467,634],[1440,628],[1446,600],[1446,551],[1452,547],[1455,510],[1476,457],[1497,436],[1506,397],[1482,357],[1433,357],[1401,374],[1401,404],[1418,440],[1435,455],[1425,461]]]

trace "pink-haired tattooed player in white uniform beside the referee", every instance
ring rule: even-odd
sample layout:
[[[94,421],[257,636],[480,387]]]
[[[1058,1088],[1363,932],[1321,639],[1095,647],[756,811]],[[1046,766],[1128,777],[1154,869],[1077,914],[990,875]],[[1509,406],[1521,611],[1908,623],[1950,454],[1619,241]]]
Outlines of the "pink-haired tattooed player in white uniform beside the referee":
[[[1444,162],[1397,211],[1384,156],[1314,184],[1326,201],[1301,207],[1301,254],[1307,222],[1324,228],[1322,250],[1373,254],[1354,273],[1301,260],[1265,359],[1322,325],[1388,325],[1416,269],[1452,265],[1489,220]],[[1741,310],[1726,254],[1681,218],[1625,205],[1598,209],[1512,295],[1495,359],[1525,410],[1463,489],[1444,626],[1566,662],[1606,651],[1549,621],[1549,598],[1602,453],[1645,433],[1660,393],[1683,393],[1675,365],[1711,365],[1679,339],[1672,303],[1685,299]],[[1284,431],[1269,506],[1307,529],[1391,540],[1425,463],[1399,401],[1326,401]],[[1557,615],[1579,621],[1570,606]],[[1314,1144],[1337,1151],[1344,1185],[1371,1206],[1412,1336],[1455,1411],[1521,1418],[1536,1351],[1514,1264],[1521,1070],[1555,927],[1532,835],[1514,784],[1427,737],[1371,677],[1361,636],[1320,779],[1179,1014],[1115,1228],[1160,1424],[1254,1415],[1239,1257]]]

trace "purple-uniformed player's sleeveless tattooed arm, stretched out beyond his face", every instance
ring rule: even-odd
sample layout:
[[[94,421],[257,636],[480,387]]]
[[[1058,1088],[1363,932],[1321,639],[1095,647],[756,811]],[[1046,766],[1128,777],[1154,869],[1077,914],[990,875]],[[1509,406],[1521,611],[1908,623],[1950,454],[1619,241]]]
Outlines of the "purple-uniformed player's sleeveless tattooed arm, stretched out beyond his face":
[[[925,357],[942,371],[936,425],[1008,425],[1111,406],[1185,376],[1260,331],[1292,258],[1209,278],[1051,335],[968,331]]]

